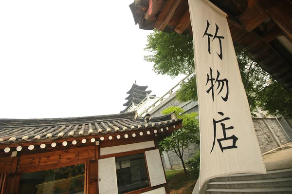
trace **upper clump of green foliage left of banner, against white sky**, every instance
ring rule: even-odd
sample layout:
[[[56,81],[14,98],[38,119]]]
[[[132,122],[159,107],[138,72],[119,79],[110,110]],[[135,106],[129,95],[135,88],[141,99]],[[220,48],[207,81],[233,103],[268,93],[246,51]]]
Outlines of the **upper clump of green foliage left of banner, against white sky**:
[[[153,62],[153,71],[176,77],[194,71],[193,37],[154,30],[147,36],[146,51],[152,53],[144,59]],[[187,52],[186,52],[187,51]]]

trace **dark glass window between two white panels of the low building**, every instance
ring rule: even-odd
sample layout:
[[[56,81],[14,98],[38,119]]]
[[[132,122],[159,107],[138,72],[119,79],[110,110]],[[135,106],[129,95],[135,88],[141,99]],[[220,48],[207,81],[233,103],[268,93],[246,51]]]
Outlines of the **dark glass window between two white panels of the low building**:
[[[149,178],[144,154],[116,158],[119,194],[149,187]]]

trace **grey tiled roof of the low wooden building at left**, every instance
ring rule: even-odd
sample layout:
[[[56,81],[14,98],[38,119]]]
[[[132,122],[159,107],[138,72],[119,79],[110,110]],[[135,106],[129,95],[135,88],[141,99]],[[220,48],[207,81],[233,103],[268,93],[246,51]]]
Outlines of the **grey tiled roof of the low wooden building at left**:
[[[136,112],[105,116],[44,119],[0,119],[0,143],[114,134],[182,123],[173,115],[137,117]]]

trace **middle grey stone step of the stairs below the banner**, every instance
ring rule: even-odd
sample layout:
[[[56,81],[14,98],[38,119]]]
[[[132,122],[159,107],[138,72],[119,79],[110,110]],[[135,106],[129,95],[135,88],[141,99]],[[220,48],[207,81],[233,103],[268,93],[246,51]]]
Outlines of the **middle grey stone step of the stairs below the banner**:
[[[270,188],[270,187],[291,187],[292,177],[260,179],[260,180],[240,180],[240,181],[218,181],[208,183],[208,188],[217,189],[240,189],[240,188]]]

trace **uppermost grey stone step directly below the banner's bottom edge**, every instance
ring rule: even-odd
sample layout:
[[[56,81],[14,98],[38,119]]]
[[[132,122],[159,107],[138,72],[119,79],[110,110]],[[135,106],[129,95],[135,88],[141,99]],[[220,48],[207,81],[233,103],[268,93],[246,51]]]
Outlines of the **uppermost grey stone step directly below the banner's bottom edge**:
[[[238,181],[238,180],[259,180],[259,179],[271,179],[271,178],[285,178],[292,177],[292,169],[268,171],[267,174],[254,174],[254,173],[243,173],[222,176],[217,178],[212,178],[212,182],[218,181]]]

